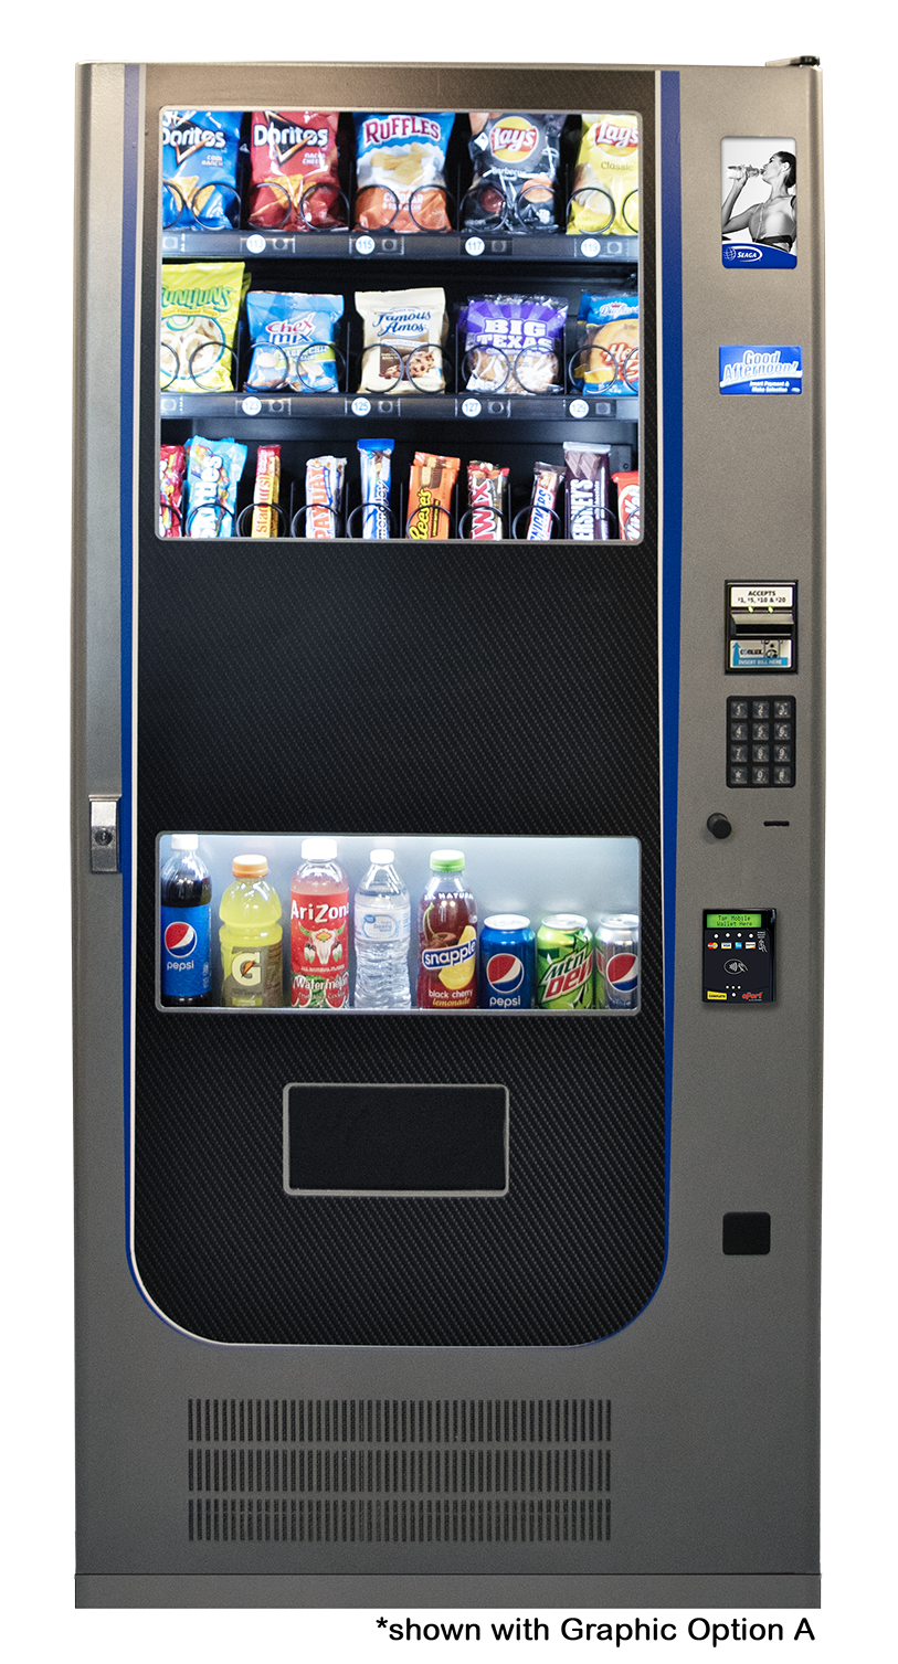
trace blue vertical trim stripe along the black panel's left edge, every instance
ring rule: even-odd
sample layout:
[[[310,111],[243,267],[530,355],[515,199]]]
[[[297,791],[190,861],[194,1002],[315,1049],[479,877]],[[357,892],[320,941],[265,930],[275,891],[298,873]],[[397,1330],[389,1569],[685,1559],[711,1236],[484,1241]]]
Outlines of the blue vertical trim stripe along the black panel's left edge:
[[[118,424],[118,514],[122,544],[122,802],[118,805],[118,847],[122,865],[122,1025],[125,1072],[125,1251],[130,1240],[132,1198],[132,649],[133,649],[133,346],[137,329],[137,198],[140,140],[140,67],[125,65],[122,178],[122,358]],[[130,1253],[128,1253],[130,1263]]]

